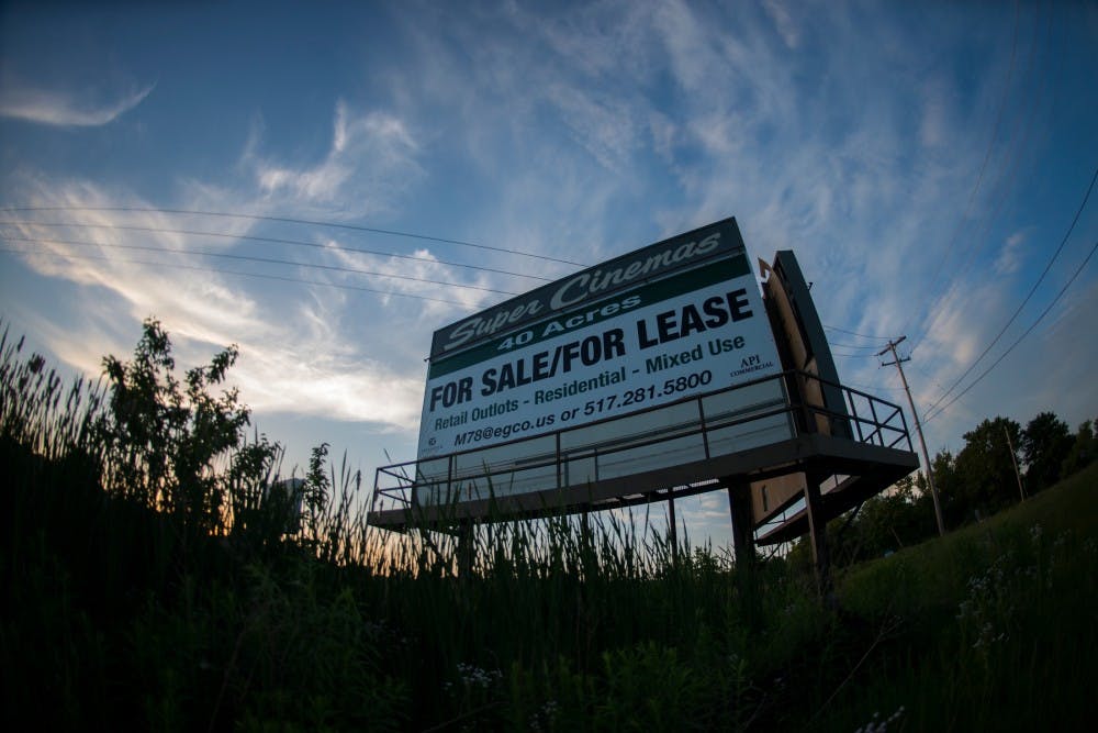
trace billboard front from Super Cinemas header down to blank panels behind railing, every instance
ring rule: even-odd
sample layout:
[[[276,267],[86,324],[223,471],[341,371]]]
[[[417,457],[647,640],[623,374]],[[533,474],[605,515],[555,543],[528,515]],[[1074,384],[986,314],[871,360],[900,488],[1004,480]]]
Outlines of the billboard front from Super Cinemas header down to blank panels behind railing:
[[[435,333],[417,473],[424,486],[446,489],[421,492],[417,500],[456,500],[456,470],[483,476],[486,467],[552,456],[551,470],[528,473],[517,484],[513,474],[493,492],[559,489],[597,481],[607,471],[620,476],[696,459],[676,448],[676,435],[784,404],[786,396],[782,381],[771,379],[690,398],[781,370],[736,220],[659,242]],[[788,437],[792,425],[776,415],[751,431],[730,433],[726,449]],[[660,435],[668,442],[653,445]],[[641,454],[621,451],[638,440],[647,444]],[[571,470],[561,476],[562,453],[600,448],[616,452],[616,468],[605,460],[601,471],[597,460],[590,470],[565,462]],[[442,475],[446,480],[438,480]],[[462,498],[482,496],[472,488],[466,486]]]

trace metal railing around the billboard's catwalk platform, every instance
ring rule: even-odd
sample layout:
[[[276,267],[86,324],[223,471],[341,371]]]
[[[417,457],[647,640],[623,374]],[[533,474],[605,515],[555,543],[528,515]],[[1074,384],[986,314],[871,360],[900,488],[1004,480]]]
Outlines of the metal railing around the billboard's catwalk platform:
[[[804,386],[811,381],[840,390],[841,408],[806,401]],[[722,410],[725,402],[736,409]],[[601,429],[613,423],[643,424],[645,417],[660,412],[677,414],[677,419],[654,432],[597,437]],[[382,466],[374,478],[371,511],[485,499],[485,488],[495,497],[561,489],[642,474],[645,460],[653,457],[671,460],[666,467],[674,465],[676,454],[684,462],[708,459],[820,432],[862,444],[912,449],[898,406],[806,371],[784,371],[541,435]],[[585,442],[584,433],[594,440]],[[654,446],[661,449],[651,451]],[[528,488],[523,488],[524,482]]]

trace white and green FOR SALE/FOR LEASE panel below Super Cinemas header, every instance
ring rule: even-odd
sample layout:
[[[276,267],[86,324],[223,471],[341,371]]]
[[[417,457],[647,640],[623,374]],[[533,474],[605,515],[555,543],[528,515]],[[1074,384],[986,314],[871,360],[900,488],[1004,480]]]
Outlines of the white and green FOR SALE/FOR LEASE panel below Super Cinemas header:
[[[434,360],[419,459],[616,418],[780,371],[754,276],[742,246],[732,247],[702,266],[551,312]]]

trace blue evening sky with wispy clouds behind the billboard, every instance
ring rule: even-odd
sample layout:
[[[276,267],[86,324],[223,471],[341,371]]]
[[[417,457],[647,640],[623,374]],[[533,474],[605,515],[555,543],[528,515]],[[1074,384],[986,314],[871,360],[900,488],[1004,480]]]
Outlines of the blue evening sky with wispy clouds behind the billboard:
[[[876,356],[907,336],[931,454],[1074,430],[1096,51],[1084,2],[7,2],[0,318],[70,374],[148,316],[181,367],[237,344],[287,464],[369,486],[415,457],[434,330],[736,216],[910,423]],[[676,511],[730,543],[722,492]]]

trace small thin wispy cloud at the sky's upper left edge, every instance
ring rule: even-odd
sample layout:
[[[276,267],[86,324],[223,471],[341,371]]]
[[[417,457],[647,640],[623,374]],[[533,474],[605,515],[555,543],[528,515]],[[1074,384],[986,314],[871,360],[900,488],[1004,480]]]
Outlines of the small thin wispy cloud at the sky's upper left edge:
[[[134,109],[156,87],[102,99],[91,91],[58,91],[4,85],[0,89],[0,116],[60,127],[97,127],[114,122]]]

